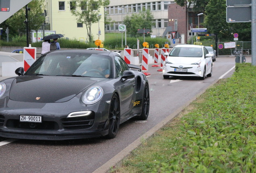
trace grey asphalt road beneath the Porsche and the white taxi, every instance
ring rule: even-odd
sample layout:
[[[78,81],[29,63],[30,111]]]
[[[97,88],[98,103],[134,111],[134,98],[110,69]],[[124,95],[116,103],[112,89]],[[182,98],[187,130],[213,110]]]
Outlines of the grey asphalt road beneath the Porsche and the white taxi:
[[[249,61],[250,57],[246,57],[246,62]],[[150,75],[147,76],[151,99],[147,121],[131,119],[123,123],[116,138],[110,140],[103,137],[68,141],[17,140],[4,145],[6,139],[0,138],[0,172],[92,173],[96,169],[95,172],[102,172],[104,170],[102,165],[111,167],[109,161],[113,157],[122,155],[124,149],[136,139],[161,124],[171,113],[184,108],[220,77],[231,76],[234,66],[234,56],[217,57],[213,62],[213,76],[199,80],[198,78],[163,79],[162,74],[157,71],[160,67],[152,67],[151,64],[148,70]]]

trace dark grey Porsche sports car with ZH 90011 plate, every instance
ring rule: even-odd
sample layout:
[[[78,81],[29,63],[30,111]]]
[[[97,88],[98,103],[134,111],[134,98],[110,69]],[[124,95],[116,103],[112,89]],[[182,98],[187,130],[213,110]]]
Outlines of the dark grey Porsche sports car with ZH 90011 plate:
[[[0,82],[0,137],[65,140],[116,137],[149,115],[149,83],[114,52],[57,50]]]

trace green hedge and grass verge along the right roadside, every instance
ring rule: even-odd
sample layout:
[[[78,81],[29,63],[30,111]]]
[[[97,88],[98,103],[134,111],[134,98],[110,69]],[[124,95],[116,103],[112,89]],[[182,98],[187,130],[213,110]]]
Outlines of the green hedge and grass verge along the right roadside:
[[[256,66],[236,64],[112,172],[256,172],[255,86]]]

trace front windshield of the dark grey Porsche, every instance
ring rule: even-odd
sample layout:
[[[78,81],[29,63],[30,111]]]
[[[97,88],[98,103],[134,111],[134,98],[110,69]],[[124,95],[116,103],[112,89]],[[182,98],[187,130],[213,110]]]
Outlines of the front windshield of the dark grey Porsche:
[[[111,78],[111,58],[88,53],[49,53],[41,56],[25,75],[89,76]]]

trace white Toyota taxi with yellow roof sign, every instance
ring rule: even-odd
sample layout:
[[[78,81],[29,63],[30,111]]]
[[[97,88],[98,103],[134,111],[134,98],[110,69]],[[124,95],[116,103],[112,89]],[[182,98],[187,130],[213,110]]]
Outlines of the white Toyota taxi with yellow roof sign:
[[[201,45],[177,45],[170,53],[165,53],[166,59],[163,63],[163,78],[169,76],[198,76],[204,79],[212,76],[213,60],[212,54]]]

